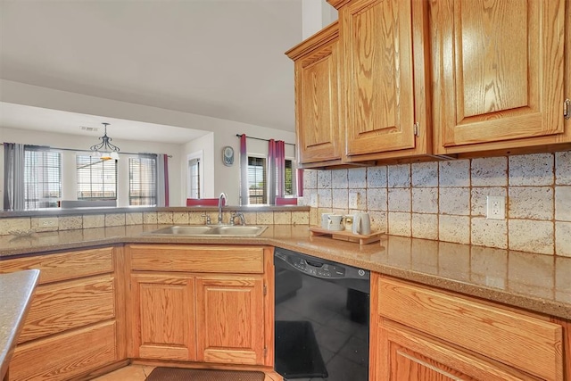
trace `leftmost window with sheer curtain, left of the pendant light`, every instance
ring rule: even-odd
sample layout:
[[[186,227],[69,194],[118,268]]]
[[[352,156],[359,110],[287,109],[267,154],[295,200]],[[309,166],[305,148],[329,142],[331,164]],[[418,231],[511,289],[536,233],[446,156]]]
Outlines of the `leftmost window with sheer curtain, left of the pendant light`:
[[[62,154],[24,147],[25,209],[56,208],[62,198]]]

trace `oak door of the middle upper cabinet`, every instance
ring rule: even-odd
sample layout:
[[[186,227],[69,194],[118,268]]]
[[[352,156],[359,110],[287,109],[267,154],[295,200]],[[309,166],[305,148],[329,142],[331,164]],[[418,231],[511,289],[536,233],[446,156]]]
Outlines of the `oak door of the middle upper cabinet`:
[[[347,161],[415,147],[411,17],[411,2],[403,0],[340,9]]]

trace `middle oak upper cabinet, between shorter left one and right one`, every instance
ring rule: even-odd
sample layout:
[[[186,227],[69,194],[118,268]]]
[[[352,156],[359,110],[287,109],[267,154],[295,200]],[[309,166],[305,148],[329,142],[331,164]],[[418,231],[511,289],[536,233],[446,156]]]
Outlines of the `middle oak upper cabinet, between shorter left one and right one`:
[[[341,5],[343,160],[430,153],[426,2],[355,0],[334,5]]]

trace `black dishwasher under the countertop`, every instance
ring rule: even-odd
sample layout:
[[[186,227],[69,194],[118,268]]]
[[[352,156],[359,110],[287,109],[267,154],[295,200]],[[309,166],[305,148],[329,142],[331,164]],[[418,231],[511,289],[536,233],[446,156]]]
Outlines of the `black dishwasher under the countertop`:
[[[285,380],[368,381],[368,270],[276,248],[276,361]]]

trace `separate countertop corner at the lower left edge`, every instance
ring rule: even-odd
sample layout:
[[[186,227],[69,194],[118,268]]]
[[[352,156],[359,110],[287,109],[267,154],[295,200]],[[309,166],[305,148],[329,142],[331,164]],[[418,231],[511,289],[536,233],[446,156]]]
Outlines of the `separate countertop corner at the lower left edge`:
[[[8,371],[38,277],[37,269],[0,274],[0,379]]]

